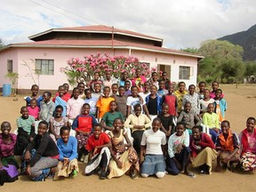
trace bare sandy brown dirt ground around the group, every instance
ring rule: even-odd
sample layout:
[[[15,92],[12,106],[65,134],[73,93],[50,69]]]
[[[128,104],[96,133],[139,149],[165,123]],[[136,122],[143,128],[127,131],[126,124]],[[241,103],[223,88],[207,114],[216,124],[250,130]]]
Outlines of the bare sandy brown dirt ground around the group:
[[[228,102],[227,120],[231,123],[233,131],[239,133],[245,128],[245,121],[249,116],[255,116],[256,86],[247,85],[221,85]],[[15,119],[20,116],[20,107],[25,104],[23,97],[14,101],[12,97],[0,97],[0,122],[9,121],[12,130],[16,129]],[[196,172],[196,170],[192,170]],[[99,180],[97,175],[85,177],[84,164],[80,164],[80,173],[75,179],[59,181],[46,180],[33,182],[27,176],[21,176],[14,183],[5,183],[0,187],[5,191],[256,191],[254,172],[213,172],[212,175],[199,175],[196,179],[179,174],[178,176],[166,175],[164,179],[149,177],[132,180],[124,175],[122,178],[112,180]]]

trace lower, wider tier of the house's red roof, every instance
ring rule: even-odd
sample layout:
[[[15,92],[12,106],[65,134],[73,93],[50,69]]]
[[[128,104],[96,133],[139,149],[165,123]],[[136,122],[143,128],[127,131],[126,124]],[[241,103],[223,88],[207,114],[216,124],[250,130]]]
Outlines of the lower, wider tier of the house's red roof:
[[[147,44],[137,44],[137,43],[131,43],[131,42],[123,42],[123,41],[117,41],[117,40],[45,40],[45,41],[38,41],[38,42],[28,42],[28,43],[21,43],[21,44],[10,44],[10,47],[60,47],[60,48],[68,48],[70,46],[77,47],[77,48],[86,48],[86,47],[102,47],[106,46],[106,48],[111,48],[112,45],[114,48],[137,48],[139,50],[144,51],[158,51],[158,52],[169,52],[172,54],[179,54],[179,55],[186,55],[186,56],[192,56],[196,58],[203,58],[202,56],[198,56],[196,54],[192,54],[189,52],[180,52],[177,50],[167,49],[164,47],[157,47],[153,45],[147,45]]]

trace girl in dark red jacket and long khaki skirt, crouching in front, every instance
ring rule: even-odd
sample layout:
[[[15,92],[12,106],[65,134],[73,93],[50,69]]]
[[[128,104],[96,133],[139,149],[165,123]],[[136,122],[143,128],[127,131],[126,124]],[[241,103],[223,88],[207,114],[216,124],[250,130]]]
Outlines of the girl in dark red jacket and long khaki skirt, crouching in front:
[[[199,167],[201,174],[212,173],[212,161],[217,157],[218,153],[214,149],[214,143],[210,136],[201,132],[201,126],[192,128],[189,148],[191,149],[190,162],[193,167]]]

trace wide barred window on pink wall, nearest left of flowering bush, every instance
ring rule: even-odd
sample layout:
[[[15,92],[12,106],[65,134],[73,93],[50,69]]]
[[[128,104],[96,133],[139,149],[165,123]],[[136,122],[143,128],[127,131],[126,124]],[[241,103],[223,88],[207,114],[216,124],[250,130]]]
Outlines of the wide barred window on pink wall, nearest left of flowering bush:
[[[36,59],[36,73],[40,75],[54,75],[54,60]]]

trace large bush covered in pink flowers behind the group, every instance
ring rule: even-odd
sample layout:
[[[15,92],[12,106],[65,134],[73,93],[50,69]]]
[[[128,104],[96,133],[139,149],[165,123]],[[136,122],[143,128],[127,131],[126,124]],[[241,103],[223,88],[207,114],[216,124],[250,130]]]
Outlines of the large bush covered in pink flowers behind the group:
[[[112,75],[119,78],[125,71],[128,76],[134,76],[136,68],[141,69],[143,76],[149,77],[151,72],[156,68],[149,68],[148,63],[141,63],[138,58],[115,56],[110,57],[108,54],[85,56],[84,60],[71,58],[68,60],[68,67],[60,68],[60,71],[68,76],[69,84],[78,82],[88,82],[92,80],[94,72],[99,72],[104,76],[106,71],[111,71]]]

